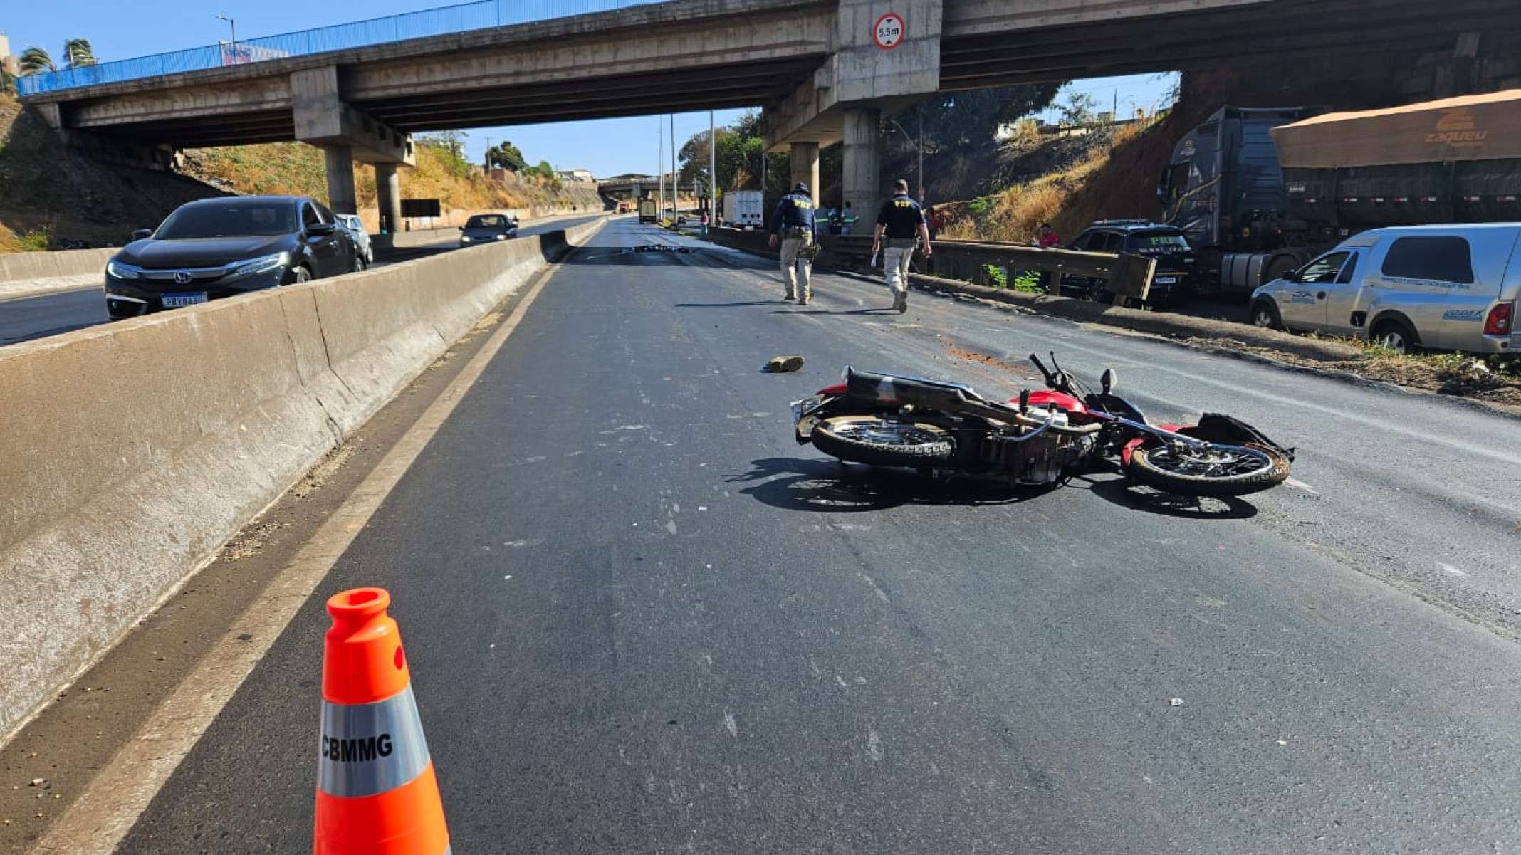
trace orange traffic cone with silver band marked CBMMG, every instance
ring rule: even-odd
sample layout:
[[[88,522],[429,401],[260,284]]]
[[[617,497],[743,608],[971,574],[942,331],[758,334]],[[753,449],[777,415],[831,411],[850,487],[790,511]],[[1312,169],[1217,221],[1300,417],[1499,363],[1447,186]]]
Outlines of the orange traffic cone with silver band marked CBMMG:
[[[391,595],[357,587],[327,601],[316,855],[446,855],[449,829]]]

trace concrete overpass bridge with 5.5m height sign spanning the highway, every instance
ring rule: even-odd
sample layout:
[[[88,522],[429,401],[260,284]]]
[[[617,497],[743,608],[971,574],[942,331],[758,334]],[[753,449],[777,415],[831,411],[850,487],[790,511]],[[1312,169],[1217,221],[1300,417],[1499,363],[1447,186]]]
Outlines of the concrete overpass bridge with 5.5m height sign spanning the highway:
[[[1241,55],[1413,56],[1460,32],[1513,26],[1513,2],[669,0],[389,41],[365,21],[348,41],[271,37],[246,56],[224,46],[222,62],[186,52],[103,64],[26,78],[23,93],[85,145],[318,145],[338,208],[353,207],[351,161],[374,163],[389,222],[412,132],[760,105],[768,146],[791,151],[795,180],[811,187],[818,148],[843,140],[844,196],[872,210],[882,113],[935,91]],[[453,9],[475,6],[488,14],[493,3]]]

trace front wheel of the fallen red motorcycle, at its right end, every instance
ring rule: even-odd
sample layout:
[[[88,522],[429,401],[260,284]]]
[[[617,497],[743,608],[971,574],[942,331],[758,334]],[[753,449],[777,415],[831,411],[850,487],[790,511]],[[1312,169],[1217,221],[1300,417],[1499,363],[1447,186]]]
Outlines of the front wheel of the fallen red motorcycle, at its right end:
[[[1246,496],[1288,479],[1288,458],[1265,446],[1202,449],[1162,443],[1130,453],[1126,472],[1135,481],[1185,496]]]

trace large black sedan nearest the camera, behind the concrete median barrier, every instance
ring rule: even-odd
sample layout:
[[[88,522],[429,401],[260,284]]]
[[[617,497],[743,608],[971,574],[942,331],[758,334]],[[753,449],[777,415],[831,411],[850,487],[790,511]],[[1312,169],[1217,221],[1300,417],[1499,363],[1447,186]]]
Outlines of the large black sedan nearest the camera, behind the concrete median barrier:
[[[189,202],[141,230],[105,266],[113,319],[350,272],[353,237],[301,196]]]

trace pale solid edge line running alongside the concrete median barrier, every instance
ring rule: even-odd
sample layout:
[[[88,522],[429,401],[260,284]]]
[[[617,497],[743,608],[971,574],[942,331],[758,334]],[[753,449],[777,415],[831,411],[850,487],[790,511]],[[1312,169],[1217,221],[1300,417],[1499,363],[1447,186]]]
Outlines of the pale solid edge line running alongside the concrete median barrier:
[[[402,481],[438,429],[453,414],[465,391],[523,319],[555,268],[538,280],[481,351],[459,371],[415,424],[397,440],[344,504],[318,526],[291,564],[228,627],[227,634],[201,659],[173,694],[149,715],[105,768],[30,849],[30,855],[114,852],[154,796],[190,753],[233,692],[265,657],[275,639],[312,598],[316,586],[365,528],[380,502]],[[251,640],[239,640],[251,639]]]

